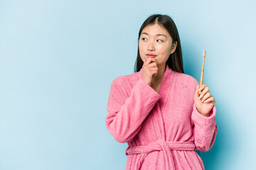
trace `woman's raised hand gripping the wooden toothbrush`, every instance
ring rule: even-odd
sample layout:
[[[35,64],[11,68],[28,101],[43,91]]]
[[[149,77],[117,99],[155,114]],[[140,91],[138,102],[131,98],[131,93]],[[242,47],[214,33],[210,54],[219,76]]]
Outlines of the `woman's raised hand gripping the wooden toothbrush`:
[[[202,91],[201,95],[199,94],[200,90]],[[199,85],[197,86],[194,100],[198,112],[201,113],[201,115],[208,117],[215,105],[215,98],[210,94],[206,84],[203,84],[200,89]]]

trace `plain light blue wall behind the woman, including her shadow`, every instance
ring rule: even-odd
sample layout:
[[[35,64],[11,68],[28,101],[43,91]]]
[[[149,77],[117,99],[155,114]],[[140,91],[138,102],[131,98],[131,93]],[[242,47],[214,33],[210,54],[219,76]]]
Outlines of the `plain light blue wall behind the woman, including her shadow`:
[[[171,16],[185,73],[215,97],[219,132],[206,169],[255,164],[255,1],[0,0],[0,169],[124,169],[107,131],[110,84],[132,74],[137,36]]]

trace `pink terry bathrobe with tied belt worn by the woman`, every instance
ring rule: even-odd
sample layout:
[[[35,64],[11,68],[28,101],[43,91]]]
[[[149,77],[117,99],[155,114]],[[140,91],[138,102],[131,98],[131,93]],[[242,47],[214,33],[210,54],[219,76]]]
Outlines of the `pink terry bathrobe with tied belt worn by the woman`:
[[[112,81],[105,119],[118,142],[128,143],[126,170],[204,169],[196,149],[206,152],[215,141],[216,108],[198,113],[198,81],[166,65],[159,94],[139,72]]]

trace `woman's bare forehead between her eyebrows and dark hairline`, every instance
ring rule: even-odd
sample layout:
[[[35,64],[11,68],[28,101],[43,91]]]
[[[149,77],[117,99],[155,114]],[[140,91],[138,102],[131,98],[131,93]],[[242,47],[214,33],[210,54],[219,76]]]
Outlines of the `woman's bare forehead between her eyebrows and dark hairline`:
[[[149,35],[158,35],[158,34],[164,34],[166,37],[171,38],[171,35],[168,33],[168,31],[158,23],[149,24],[147,25],[143,30],[142,33],[147,33]]]

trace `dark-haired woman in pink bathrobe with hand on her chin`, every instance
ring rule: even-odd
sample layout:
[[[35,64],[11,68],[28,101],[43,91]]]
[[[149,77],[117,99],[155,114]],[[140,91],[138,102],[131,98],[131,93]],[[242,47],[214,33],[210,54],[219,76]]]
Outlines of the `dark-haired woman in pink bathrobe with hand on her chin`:
[[[107,130],[127,142],[126,169],[204,169],[196,150],[215,141],[215,99],[183,72],[174,21],[153,15],[139,30],[137,70],[112,81]],[[198,91],[202,91],[199,95]]]

